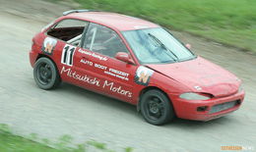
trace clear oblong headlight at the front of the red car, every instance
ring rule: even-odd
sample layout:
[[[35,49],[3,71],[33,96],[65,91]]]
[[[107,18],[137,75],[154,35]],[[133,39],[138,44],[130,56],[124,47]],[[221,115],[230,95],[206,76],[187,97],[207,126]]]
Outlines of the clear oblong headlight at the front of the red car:
[[[211,99],[212,95],[204,93],[187,92],[180,94],[179,97],[186,100],[208,100]]]

